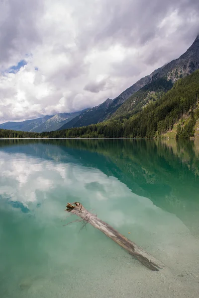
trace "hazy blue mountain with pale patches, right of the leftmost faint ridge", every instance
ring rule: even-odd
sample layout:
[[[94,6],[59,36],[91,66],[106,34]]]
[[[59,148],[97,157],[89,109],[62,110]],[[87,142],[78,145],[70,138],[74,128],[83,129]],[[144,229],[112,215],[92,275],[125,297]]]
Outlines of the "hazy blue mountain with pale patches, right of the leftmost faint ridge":
[[[42,133],[58,130],[61,126],[77,117],[80,113],[81,112],[56,114],[41,125],[31,129],[30,132]]]

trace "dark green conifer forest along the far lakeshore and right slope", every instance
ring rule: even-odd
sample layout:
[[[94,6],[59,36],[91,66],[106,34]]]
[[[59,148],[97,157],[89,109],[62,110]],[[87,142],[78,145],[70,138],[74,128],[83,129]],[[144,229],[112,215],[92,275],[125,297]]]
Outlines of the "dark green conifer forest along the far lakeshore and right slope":
[[[132,116],[122,110],[123,115],[106,122],[40,134],[1,129],[0,138],[157,138],[171,130],[184,115],[187,121],[178,125],[176,138],[190,138],[199,118],[198,103],[199,70],[179,79],[172,89]]]

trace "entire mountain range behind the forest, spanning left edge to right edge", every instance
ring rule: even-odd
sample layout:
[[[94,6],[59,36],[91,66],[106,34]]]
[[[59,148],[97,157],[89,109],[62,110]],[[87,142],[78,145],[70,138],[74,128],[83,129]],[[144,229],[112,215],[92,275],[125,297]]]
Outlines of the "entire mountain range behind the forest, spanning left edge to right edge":
[[[107,98],[100,105],[80,112],[59,113],[22,122],[6,122],[0,124],[0,129],[41,133],[88,126],[115,117],[129,118],[151,101],[158,100],[179,78],[198,69],[199,35],[180,58],[142,77],[114,99]]]

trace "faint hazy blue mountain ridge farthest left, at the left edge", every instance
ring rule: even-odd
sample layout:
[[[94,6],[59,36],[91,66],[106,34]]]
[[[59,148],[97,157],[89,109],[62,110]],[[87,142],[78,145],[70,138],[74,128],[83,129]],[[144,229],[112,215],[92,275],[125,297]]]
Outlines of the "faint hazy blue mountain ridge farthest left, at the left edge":
[[[15,131],[29,132],[35,127],[41,125],[43,122],[50,119],[52,116],[45,116],[37,119],[31,119],[21,122],[5,122],[0,124],[0,129],[9,129]]]

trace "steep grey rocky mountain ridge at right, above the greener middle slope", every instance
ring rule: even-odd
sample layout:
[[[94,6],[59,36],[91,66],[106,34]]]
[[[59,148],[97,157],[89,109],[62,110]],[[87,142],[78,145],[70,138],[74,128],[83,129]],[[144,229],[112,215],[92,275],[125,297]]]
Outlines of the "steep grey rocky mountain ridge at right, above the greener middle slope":
[[[107,98],[100,105],[90,108],[80,116],[72,119],[69,123],[60,129],[67,129],[72,127],[82,127],[90,124],[96,124],[107,120],[113,113],[128,99],[132,94],[140,90],[142,87],[150,83],[155,84],[158,79],[167,79],[174,83],[179,78],[183,78],[188,74],[192,74],[199,69],[199,34],[197,35],[191,47],[178,59],[167,63],[163,67],[155,70],[153,73],[140,78],[132,86],[124,90],[114,99]],[[153,90],[152,90],[153,91]],[[130,99],[129,99],[130,100]]]

